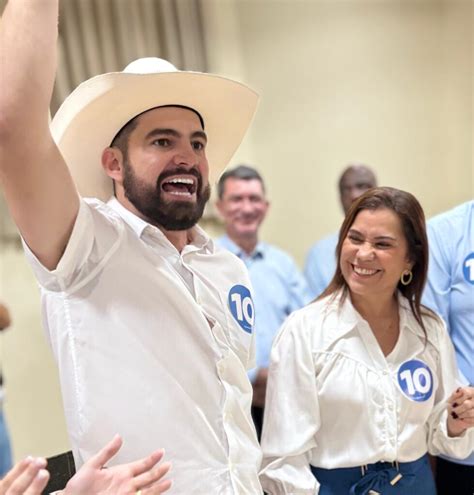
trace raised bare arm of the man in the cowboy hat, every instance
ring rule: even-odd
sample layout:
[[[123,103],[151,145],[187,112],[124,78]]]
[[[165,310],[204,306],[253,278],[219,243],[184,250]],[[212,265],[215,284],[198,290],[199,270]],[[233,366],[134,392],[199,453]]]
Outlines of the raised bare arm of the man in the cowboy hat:
[[[61,258],[79,208],[48,124],[58,3],[9,0],[0,21],[0,181],[23,238],[50,269]]]

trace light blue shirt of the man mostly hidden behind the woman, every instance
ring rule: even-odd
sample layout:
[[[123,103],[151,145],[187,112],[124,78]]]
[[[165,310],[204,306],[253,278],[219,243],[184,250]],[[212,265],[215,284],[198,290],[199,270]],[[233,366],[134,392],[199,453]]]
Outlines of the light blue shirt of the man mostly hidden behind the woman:
[[[309,250],[304,275],[314,297],[329,285],[336,271],[336,246],[339,232],[324,237]]]

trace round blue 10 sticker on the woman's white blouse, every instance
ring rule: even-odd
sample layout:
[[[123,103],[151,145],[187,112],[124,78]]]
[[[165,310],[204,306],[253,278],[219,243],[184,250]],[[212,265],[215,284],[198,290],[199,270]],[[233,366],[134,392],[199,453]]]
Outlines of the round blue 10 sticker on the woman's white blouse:
[[[433,393],[433,375],[423,361],[412,359],[398,368],[398,385],[410,400],[424,402]]]

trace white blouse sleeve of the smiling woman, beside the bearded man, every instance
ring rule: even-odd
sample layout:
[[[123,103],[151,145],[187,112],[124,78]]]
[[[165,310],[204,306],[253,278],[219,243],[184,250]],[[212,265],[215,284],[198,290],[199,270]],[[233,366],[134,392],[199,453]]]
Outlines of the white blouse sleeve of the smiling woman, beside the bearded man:
[[[270,495],[317,494],[319,488],[310,469],[320,427],[315,369],[309,329],[295,316],[275,339],[269,367],[260,479]]]

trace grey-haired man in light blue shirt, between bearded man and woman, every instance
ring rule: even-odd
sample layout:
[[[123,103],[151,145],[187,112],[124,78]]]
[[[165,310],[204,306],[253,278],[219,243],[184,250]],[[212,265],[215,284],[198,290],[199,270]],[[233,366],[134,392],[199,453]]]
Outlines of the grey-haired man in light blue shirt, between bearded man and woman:
[[[260,438],[273,337],[285,318],[308,303],[311,295],[293,259],[258,240],[269,207],[260,174],[240,165],[221,176],[217,190],[216,205],[226,231],[217,244],[245,263],[253,285],[257,368],[249,378],[254,391],[252,417]]]

